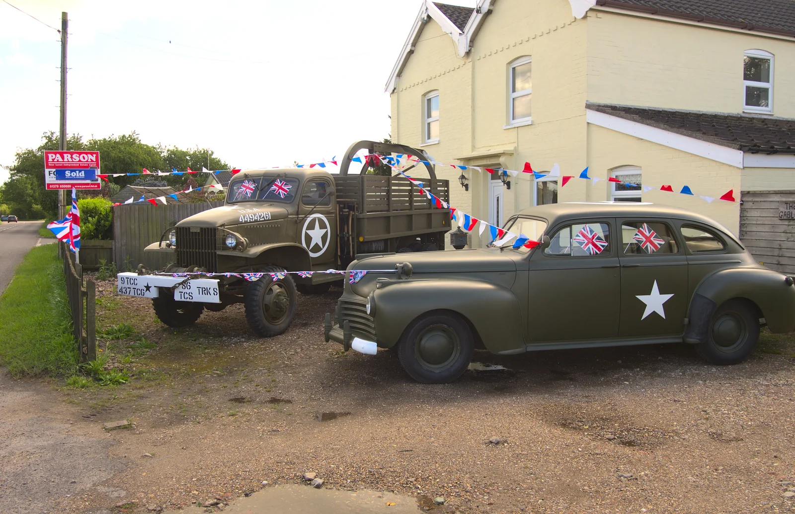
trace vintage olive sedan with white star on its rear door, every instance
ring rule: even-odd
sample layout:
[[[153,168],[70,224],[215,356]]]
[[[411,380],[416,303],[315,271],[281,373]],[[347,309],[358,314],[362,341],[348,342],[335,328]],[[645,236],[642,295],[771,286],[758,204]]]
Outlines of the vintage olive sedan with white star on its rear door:
[[[362,255],[325,337],[394,348],[418,382],[452,382],[475,347],[533,350],[690,343],[734,364],[759,328],[795,329],[793,278],[757,263],[726,228],[664,205],[543,205],[506,229],[537,247]]]

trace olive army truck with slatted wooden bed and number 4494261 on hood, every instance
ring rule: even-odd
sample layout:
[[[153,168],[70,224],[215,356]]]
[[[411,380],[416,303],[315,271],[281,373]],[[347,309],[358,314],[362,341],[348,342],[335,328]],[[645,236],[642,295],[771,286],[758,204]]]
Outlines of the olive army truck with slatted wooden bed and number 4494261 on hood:
[[[172,327],[195,323],[204,309],[242,303],[254,332],[271,337],[293,321],[297,293],[324,293],[343,275],[274,279],[270,273],[345,270],[357,254],[443,250],[449,210],[436,209],[406,178],[348,175],[362,149],[425,155],[401,144],[359,141],[340,161],[339,175],[320,167],[241,171],[223,206],[185,218],[145,248],[168,252],[173,263],[157,272],[139,267],[118,274],[118,293],[152,298],[157,317]],[[436,178],[432,165],[425,169],[427,189],[448,201],[448,181]],[[222,273],[228,275],[207,275]],[[264,275],[238,276],[246,273]],[[191,274],[188,280],[184,274]]]

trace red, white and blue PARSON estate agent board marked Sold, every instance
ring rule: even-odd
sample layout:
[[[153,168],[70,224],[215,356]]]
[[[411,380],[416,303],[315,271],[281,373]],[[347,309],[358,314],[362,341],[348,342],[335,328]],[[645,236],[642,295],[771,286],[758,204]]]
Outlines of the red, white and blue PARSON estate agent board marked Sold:
[[[45,151],[45,186],[48,190],[100,189],[99,152]]]

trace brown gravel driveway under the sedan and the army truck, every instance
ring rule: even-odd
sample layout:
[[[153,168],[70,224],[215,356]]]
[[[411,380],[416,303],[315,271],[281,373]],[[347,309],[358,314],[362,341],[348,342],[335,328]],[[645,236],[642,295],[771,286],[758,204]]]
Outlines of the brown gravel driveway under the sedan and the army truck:
[[[112,286],[99,284],[98,324],[131,323],[136,334],[103,348],[132,381],[49,394],[83,432],[110,441],[113,471],[56,498],[56,512],[217,497],[214,511],[262,481],[304,483],[304,472],[324,488],[410,495],[435,512],[795,511],[791,337],[766,334],[731,367],[704,365],[684,345],[477,351],[507,369],[422,385],[392,351],[324,342],[339,290],[301,297],[285,335],[258,339],[240,305],[169,329],[148,301],[111,296]],[[132,428],[100,426],[126,417]]]

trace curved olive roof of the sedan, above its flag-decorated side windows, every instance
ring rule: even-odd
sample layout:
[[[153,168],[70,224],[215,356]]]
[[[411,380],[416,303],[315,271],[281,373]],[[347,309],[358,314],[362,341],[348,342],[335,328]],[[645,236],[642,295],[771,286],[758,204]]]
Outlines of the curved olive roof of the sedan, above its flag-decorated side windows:
[[[681,209],[673,205],[654,204],[644,201],[572,201],[549,205],[537,205],[522,210],[519,214],[541,217],[549,224],[556,224],[570,218],[581,217],[667,217],[696,221],[711,225],[732,236],[722,224],[712,218]]]

